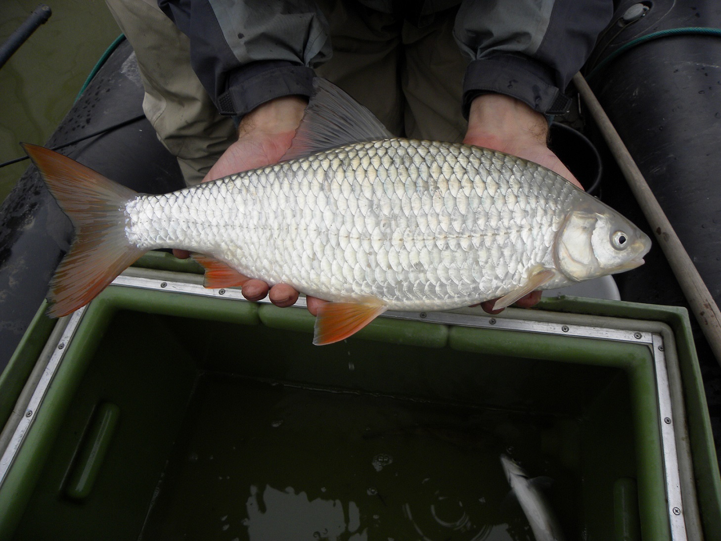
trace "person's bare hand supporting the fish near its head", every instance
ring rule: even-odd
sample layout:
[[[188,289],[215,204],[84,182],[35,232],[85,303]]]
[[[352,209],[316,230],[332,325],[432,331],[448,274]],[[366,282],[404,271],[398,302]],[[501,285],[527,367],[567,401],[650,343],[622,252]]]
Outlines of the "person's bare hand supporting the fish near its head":
[[[463,142],[536,162],[583,189],[580,182],[548,148],[547,138],[548,122],[544,115],[513,97],[482,94],[471,103],[468,131]],[[541,291],[533,291],[518,299],[516,305],[528,308],[540,300]],[[495,299],[482,302],[481,307],[489,314],[502,312],[503,309],[492,309],[494,303]]]

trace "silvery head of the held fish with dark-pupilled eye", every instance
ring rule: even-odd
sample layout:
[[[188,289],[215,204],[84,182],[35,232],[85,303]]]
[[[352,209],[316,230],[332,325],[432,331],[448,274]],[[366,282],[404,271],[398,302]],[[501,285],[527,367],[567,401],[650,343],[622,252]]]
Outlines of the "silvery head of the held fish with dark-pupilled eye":
[[[596,204],[597,203],[597,204]],[[574,281],[643,265],[651,239],[599,201],[570,212],[556,237],[556,265]]]

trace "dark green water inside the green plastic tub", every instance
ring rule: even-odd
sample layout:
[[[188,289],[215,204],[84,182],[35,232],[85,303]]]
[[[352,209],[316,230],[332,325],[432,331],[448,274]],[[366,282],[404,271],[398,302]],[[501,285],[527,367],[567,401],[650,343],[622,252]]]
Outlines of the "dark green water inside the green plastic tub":
[[[567,420],[213,375],[189,410],[143,540],[532,540],[508,447],[577,511],[580,483],[539,456]]]

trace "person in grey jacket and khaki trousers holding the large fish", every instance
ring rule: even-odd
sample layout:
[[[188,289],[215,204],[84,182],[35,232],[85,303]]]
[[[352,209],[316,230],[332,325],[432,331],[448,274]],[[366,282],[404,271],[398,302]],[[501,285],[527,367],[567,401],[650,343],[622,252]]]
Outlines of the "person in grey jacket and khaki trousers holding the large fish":
[[[143,110],[188,185],[278,162],[315,75],[396,136],[486,146],[580,185],[547,147],[549,120],[567,111],[563,90],[610,21],[609,0],[106,2],[135,50]],[[242,292],[260,300],[269,288],[251,280]],[[297,298],[270,289],[280,307]]]

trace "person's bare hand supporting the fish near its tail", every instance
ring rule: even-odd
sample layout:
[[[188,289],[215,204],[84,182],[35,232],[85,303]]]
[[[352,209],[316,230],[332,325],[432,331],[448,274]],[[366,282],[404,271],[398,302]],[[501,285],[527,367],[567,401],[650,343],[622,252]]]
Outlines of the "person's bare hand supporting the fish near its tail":
[[[211,167],[203,182],[278,162],[290,148],[305,108],[306,100],[296,96],[280,97],[256,107],[243,117],[238,140]],[[173,253],[178,258],[190,255],[185,250],[173,250]],[[287,283],[269,288],[267,283],[256,279],[243,284],[242,294],[249,301],[260,301],[269,295],[270,302],[278,307],[291,306],[298,300],[298,291]],[[311,313],[315,314],[319,302],[319,299],[308,298]]]

